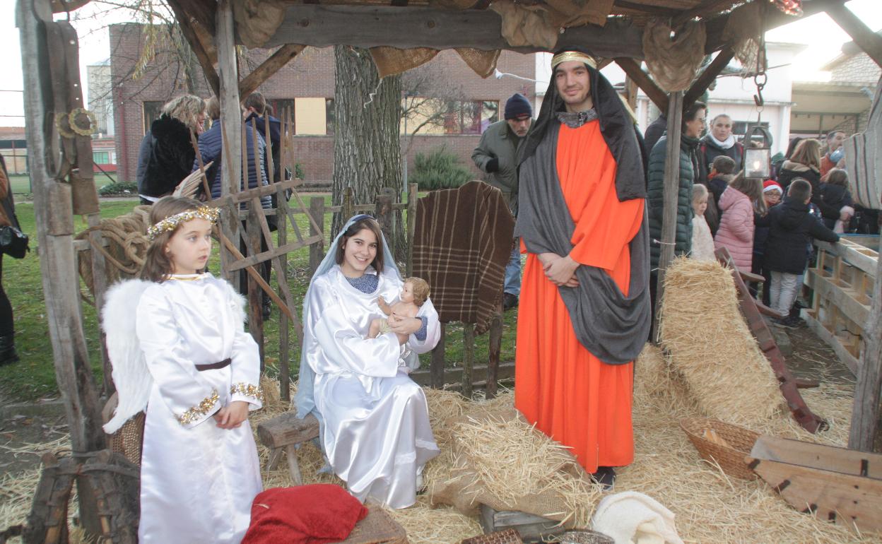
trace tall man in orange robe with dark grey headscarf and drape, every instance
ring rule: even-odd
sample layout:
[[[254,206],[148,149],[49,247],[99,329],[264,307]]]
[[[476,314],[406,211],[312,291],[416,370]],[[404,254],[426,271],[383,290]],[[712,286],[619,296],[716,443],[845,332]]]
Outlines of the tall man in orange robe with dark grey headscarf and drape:
[[[633,460],[633,360],[650,325],[645,163],[584,52],[565,50],[519,157],[527,252],[515,406],[611,488]]]

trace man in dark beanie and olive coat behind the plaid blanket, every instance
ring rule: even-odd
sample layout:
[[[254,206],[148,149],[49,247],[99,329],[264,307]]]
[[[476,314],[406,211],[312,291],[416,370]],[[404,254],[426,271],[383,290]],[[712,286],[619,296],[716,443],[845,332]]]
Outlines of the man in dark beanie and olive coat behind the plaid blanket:
[[[502,191],[508,200],[512,215],[518,215],[518,165],[516,157],[520,143],[530,130],[533,108],[527,97],[514,93],[505,102],[505,119],[487,127],[481,142],[472,152],[475,166],[486,172],[484,181]],[[514,244],[512,258],[505,266],[503,307],[518,305],[520,294],[520,248]]]

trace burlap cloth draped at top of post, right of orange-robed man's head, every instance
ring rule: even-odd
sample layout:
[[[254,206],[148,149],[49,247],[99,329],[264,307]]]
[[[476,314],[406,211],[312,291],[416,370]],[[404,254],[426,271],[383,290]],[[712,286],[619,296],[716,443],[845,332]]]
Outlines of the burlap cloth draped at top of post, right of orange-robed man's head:
[[[643,54],[649,73],[669,93],[688,89],[695,78],[705,57],[705,25],[689,21],[676,39],[672,40],[670,34],[664,19],[650,19],[643,29]]]

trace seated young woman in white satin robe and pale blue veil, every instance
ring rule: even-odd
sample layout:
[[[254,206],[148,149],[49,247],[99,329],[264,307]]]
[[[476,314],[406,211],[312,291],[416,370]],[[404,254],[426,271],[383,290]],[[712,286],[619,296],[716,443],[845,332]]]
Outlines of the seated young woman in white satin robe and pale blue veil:
[[[389,316],[391,332],[365,338],[385,317],[377,298],[397,301],[403,281],[376,220],[357,215],[331,244],[303,303],[303,352],[296,405],[313,413],[328,464],[361,501],[415,503],[422,467],[438,454],[429,409],[407,376],[435,347],[430,300],[416,317]],[[401,345],[398,334],[407,335]]]

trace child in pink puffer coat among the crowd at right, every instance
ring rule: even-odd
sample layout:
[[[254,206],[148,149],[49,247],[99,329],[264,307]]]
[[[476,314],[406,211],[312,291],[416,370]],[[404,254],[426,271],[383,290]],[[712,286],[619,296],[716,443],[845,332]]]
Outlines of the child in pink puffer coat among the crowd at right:
[[[734,264],[744,272],[751,272],[753,213],[756,206],[762,206],[762,194],[761,180],[740,173],[720,197],[720,228],[714,236],[714,247],[729,250]]]

